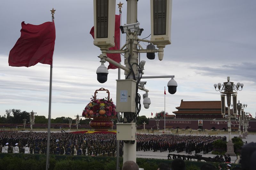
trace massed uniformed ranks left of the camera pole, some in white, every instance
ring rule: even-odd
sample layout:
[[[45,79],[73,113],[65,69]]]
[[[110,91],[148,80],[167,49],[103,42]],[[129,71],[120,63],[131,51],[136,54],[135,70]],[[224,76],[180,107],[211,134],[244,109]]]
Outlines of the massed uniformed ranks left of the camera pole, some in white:
[[[0,132],[2,153],[45,154],[46,144],[44,132]],[[123,156],[122,142],[119,148]],[[50,154],[116,156],[116,134],[51,133]]]

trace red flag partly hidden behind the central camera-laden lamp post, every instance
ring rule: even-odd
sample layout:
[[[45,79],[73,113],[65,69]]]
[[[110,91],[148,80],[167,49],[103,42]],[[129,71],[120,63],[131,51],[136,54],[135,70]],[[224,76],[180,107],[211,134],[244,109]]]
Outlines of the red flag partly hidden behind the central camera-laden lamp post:
[[[109,48],[109,50],[115,50],[120,49],[120,18],[121,15],[116,15],[115,20],[115,47]],[[92,27],[90,34],[92,35],[92,38],[94,39],[94,26]],[[107,56],[111,58],[112,60],[116,61],[117,63],[121,62],[121,56],[120,53],[107,53]],[[117,69],[115,65],[109,63],[108,69]]]

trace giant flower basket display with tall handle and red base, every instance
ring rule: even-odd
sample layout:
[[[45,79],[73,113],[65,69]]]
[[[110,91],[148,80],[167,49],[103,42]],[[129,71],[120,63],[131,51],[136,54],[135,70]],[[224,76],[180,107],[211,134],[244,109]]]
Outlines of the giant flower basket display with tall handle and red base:
[[[108,97],[105,99],[96,99],[98,91],[107,91]],[[85,118],[93,118],[90,122],[90,126],[94,129],[108,129],[113,126],[113,122],[110,118],[116,118],[116,105],[112,99],[109,99],[110,93],[104,88],[100,88],[94,92],[94,98],[91,98],[91,102],[86,105],[82,116]]]

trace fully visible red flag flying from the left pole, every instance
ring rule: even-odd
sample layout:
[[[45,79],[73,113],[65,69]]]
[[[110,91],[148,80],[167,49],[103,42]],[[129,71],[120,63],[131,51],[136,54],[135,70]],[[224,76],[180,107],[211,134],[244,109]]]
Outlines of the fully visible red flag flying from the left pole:
[[[52,65],[55,44],[54,22],[41,25],[21,23],[21,35],[9,54],[9,66],[30,67],[37,63]]]

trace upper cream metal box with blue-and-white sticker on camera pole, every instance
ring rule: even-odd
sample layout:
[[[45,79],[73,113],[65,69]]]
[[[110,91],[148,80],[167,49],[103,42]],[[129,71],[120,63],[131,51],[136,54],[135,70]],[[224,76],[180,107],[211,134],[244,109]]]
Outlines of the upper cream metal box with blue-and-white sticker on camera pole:
[[[136,112],[136,81],[116,80],[116,112]]]

